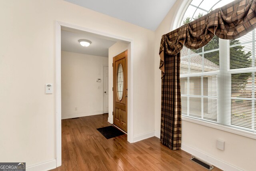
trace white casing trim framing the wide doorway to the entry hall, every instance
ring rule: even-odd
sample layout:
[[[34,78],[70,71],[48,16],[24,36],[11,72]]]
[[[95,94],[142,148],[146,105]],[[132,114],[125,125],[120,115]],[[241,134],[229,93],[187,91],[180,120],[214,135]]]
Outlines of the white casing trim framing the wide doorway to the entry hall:
[[[61,165],[61,26],[74,28],[77,30],[82,30],[85,32],[90,32],[102,36],[107,36],[110,38],[115,38],[118,40],[123,40],[130,42],[130,56],[128,55],[128,142],[133,142],[133,58],[134,58],[134,42],[132,39],[123,38],[120,36],[115,36],[112,34],[100,32],[97,30],[92,30],[88,28],[83,28],[80,26],[74,26],[72,24],[67,24],[64,22],[56,21],[56,96],[55,96],[55,109],[56,109],[56,165],[59,167]],[[129,49],[128,48],[128,49]],[[129,52],[128,52],[129,54]],[[109,80],[112,81],[112,80]]]

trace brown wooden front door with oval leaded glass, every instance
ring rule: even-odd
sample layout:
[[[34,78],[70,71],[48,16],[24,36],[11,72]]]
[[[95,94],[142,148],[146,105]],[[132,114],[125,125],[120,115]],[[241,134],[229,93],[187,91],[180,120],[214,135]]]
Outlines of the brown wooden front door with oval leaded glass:
[[[127,50],[113,58],[113,122],[127,132]]]

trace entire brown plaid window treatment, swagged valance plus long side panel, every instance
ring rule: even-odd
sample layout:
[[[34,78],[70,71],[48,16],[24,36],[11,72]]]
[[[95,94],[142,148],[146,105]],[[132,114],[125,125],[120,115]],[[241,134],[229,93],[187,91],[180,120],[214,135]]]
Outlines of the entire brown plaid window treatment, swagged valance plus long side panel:
[[[236,39],[256,27],[256,0],[236,0],[162,36],[161,141],[175,150],[181,147],[180,51],[199,49],[214,35]]]

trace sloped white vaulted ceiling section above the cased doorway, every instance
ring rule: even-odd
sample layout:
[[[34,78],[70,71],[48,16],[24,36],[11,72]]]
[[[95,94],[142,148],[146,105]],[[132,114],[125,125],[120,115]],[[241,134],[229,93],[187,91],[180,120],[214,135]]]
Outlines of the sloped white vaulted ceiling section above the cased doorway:
[[[155,31],[176,0],[65,0]]]

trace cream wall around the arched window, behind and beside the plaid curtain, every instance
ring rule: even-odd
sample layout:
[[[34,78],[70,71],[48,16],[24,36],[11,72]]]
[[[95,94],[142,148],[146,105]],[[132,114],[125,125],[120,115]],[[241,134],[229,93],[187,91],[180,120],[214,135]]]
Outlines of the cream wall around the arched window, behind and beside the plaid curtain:
[[[163,34],[170,32],[174,18],[182,0],[177,0],[166,18],[162,21],[155,32],[155,131],[160,137],[161,117],[161,72],[158,69],[160,58],[158,55],[160,40]],[[216,140],[225,141],[225,150],[216,148]],[[204,160],[215,159],[217,167],[224,170],[239,168],[245,171],[254,171],[256,167],[256,140],[236,135],[226,131],[198,125],[182,119],[182,149],[193,154],[202,155]],[[232,165],[228,167],[228,165]],[[225,167],[229,169],[225,169]],[[233,168],[233,169],[234,169]],[[233,170],[232,169],[232,170]]]

